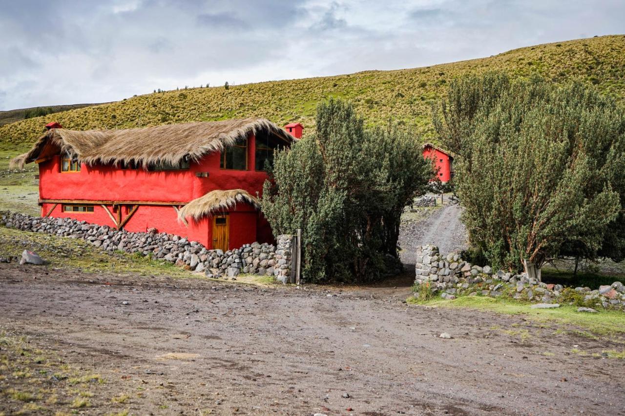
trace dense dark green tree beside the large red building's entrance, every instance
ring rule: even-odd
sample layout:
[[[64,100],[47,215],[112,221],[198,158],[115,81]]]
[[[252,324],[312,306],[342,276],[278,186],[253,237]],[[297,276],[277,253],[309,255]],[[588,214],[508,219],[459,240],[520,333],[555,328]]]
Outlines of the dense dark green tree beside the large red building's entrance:
[[[331,100],[314,135],[276,153],[261,207],[274,234],[302,229],[307,280],[373,280],[397,261],[402,209],[431,176],[414,136],[367,131],[351,104]]]

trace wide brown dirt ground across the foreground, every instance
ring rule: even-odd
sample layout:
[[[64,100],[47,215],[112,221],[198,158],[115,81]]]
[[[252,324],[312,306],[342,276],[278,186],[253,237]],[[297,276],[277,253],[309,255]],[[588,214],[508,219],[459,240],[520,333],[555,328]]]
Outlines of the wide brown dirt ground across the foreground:
[[[407,294],[0,264],[0,327],[106,380],[78,413],[625,414],[625,360],[571,352],[622,344]]]

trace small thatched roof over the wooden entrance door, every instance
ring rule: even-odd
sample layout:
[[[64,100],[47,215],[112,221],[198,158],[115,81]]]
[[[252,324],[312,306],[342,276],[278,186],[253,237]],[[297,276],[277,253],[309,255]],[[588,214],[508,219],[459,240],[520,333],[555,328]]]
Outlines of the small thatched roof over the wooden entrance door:
[[[222,211],[236,206],[237,202],[247,202],[256,209],[261,208],[261,204],[256,197],[251,196],[244,189],[228,189],[227,191],[211,191],[206,195],[186,204],[178,210],[178,220],[182,221],[187,217],[199,220],[204,215],[211,215],[213,212]]]

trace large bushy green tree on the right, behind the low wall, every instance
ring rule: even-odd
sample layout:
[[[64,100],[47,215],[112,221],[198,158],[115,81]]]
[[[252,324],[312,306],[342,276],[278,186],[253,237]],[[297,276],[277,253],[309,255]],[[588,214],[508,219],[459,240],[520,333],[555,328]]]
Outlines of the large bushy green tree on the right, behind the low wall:
[[[503,74],[454,81],[434,119],[458,155],[456,190],[477,252],[537,277],[565,252],[622,259],[623,114],[582,84]]]

